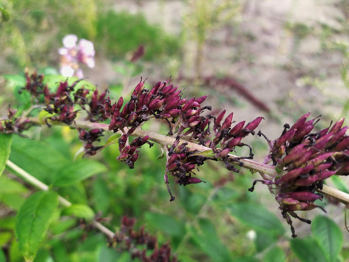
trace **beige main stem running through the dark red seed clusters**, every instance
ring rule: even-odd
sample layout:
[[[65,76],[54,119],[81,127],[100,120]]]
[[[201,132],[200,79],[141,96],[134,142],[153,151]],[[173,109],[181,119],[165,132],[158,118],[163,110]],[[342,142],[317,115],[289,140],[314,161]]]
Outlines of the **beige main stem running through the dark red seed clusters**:
[[[40,122],[38,118],[30,118],[31,121],[37,122],[38,124],[45,124],[44,122]],[[88,122],[88,121],[80,121],[80,120],[76,120],[76,125],[80,126],[81,128],[87,128],[87,129],[94,129],[94,128],[98,128],[98,129],[103,129],[105,131],[109,131],[108,128],[108,124],[102,124],[102,123],[96,123],[96,122]],[[52,125],[65,125],[59,122],[51,122],[50,124]],[[127,128],[126,128],[127,129]],[[121,131],[120,131],[121,132]],[[142,129],[136,129],[133,134],[133,136],[141,136],[141,137],[145,137],[145,136],[149,136],[151,141],[154,141],[157,144],[160,145],[173,145],[174,141],[176,140],[175,137],[170,137],[170,136],[164,136],[162,134],[158,134],[158,133],[153,133],[150,131],[146,131],[146,130],[142,130]],[[189,148],[195,148],[197,150],[199,150],[200,152],[202,151],[207,151],[210,148],[206,147],[206,146],[202,146],[202,145],[198,145],[189,141],[185,141],[182,140],[182,143],[188,143],[187,147]],[[236,155],[232,155],[229,154],[229,156],[234,159],[234,158],[238,158]],[[239,162],[243,162],[244,165],[242,167],[250,169],[251,171],[255,171],[255,172],[259,172],[271,177],[276,177],[276,176],[280,176],[282,174],[287,173],[286,171],[283,171],[284,173],[277,173],[277,171],[275,170],[275,166],[269,166],[269,165],[265,165],[263,163],[259,163],[259,162],[255,162],[249,159],[240,159]],[[238,162],[236,162],[238,164]],[[345,205],[349,205],[349,194],[344,193],[340,190],[337,190],[335,188],[331,188],[328,187],[326,185],[324,185],[324,187],[322,188],[322,190],[317,190],[318,192],[336,198],[338,201],[340,201],[341,203],[345,204]]]

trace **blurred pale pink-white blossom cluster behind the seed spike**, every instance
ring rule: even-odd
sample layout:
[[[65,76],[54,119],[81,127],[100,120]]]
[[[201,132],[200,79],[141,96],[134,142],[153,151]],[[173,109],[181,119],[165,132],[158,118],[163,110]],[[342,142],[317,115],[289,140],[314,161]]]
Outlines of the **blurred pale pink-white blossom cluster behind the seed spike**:
[[[60,73],[65,77],[83,78],[82,69],[79,63],[88,67],[95,67],[95,49],[93,43],[86,39],[80,39],[77,43],[76,35],[66,35],[63,38],[63,46],[58,49],[61,60]]]

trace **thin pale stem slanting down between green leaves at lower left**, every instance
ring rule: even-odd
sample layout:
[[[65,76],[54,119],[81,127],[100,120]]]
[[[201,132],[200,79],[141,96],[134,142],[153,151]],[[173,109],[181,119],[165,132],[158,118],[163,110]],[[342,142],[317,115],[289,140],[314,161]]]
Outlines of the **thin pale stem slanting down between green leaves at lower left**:
[[[28,172],[24,171],[22,168],[18,167],[17,165],[15,165],[10,160],[7,160],[6,165],[9,168],[13,169],[19,177],[21,177],[25,181],[29,182],[30,184],[32,184],[32,185],[36,186],[37,188],[39,188],[41,190],[44,190],[44,191],[49,190],[49,186],[48,185],[46,185],[43,182],[39,181],[34,176],[30,175]],[[62,205],[66,206],[66,207],[72,205],[72,203],[70,203],[64,197],[58,196],[58,200],[59,200],[59,203],[61,203]],[[109,238],[113,238],[114,237],[114,232],[112,232],[111,230],[109,230],[108,228],[103,226],[98,221],[93,220],[92,224],[96,228],[98,228],[101,232],[103,232],[105,235],[107,235]]]

